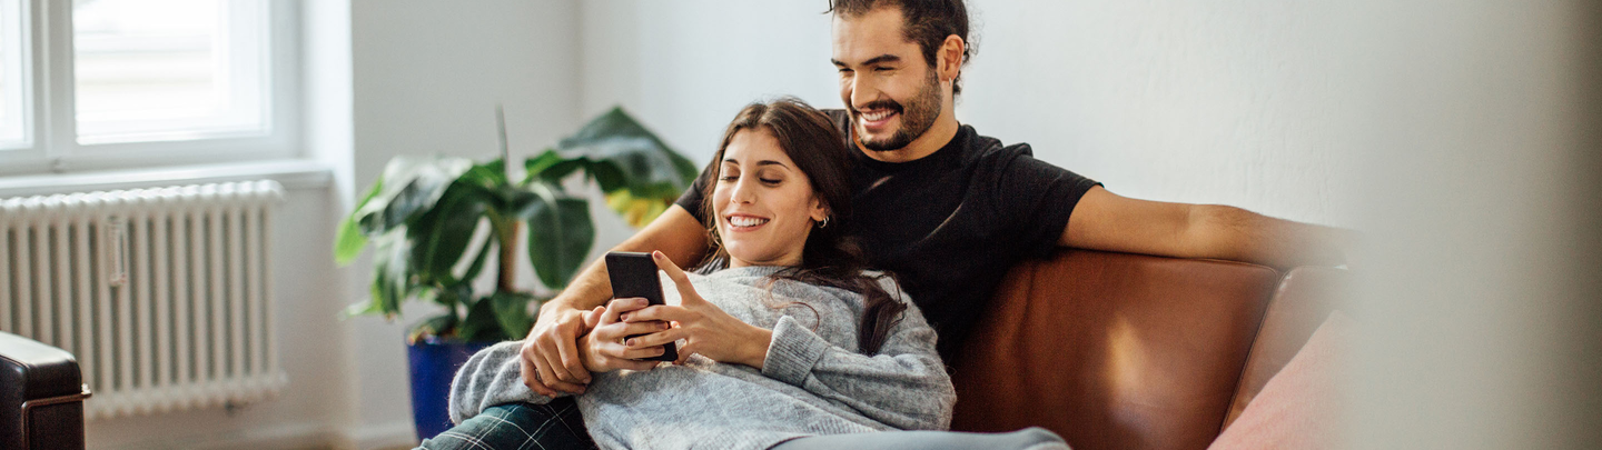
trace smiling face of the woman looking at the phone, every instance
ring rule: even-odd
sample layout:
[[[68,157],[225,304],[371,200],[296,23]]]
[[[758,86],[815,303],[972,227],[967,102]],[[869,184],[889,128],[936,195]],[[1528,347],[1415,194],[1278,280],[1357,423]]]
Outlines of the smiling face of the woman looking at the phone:
[[[711,192],[729,266],[798,266],[812,223],[827,218],[812,183],[767,127],[729,139]]]

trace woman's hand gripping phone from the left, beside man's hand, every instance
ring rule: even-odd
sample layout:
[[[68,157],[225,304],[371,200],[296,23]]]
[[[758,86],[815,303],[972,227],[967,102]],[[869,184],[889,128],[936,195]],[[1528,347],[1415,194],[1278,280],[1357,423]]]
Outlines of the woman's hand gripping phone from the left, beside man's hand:
[[[655,333],[668,328],[668,322],[622,322],[618,315],[623,312],[639,311],[649,306],[644,298],[618,298],[607,303],[607,306],[596,306],[590,312],[585,312],[585,322],[594,323],[594,330],[578,338],[578,354],[590,372],[612,372],[618,368],[626,370],[650,370],[657,367],[657,360],[636,360],[642,357],[662,356],[665,351],[658,348],[626,348],[623,346],[625,336]]]

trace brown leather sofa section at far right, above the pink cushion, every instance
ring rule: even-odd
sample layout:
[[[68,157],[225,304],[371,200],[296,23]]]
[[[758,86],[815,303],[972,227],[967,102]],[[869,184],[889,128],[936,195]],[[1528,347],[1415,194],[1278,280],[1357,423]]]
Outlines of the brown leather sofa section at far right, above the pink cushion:
[[[1336,299],[1346,291],[1349,277],[1344,269],[1334,267],[1296,267],[1285,275],[1269,301],[1258,338],[1253,340],[1224,428],[1246,410],[1246,404],[1262,392],[1269,378],[1278,375],[1318,325],[1323,325],[1334,311]]]

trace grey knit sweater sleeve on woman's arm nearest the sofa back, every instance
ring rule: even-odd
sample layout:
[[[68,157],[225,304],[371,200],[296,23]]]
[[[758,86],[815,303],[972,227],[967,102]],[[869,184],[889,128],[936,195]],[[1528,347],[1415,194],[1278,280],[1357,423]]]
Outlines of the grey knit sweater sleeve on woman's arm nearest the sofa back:
[[[894,428],[950,428],[956,391],[934,349],[934,328],[912,303],[894,323],[879,352],[863,356],[830,344],[790,315],[780,317],[763,375]]]

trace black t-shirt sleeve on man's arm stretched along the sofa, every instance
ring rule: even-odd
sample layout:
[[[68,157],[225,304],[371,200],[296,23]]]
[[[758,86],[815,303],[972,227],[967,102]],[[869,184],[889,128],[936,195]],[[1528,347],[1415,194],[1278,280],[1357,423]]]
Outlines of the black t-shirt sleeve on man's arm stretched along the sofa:
[[[1000,167],[996,205],[1017,231],[1027,256],[1046,256],[1069,227],[1069,216],[1085,192],[1101,186],[1078,173],[1036,160],[1027,147]]]

